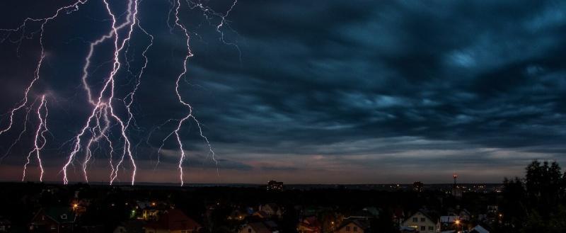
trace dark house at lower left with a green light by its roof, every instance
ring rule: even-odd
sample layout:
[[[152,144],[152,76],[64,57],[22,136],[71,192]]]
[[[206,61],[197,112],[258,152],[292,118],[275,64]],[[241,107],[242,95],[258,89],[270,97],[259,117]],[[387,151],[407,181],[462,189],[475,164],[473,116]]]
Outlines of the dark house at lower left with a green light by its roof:
[[[30,232],[73,232],[75,220],[71,208],[42,208],[32,218]]]

